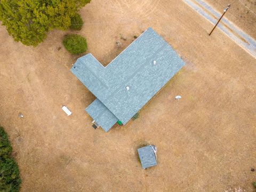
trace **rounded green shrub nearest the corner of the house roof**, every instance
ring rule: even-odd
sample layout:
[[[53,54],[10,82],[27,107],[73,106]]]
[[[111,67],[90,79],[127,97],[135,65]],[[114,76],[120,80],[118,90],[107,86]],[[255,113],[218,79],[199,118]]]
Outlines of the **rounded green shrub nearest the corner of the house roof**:
[[[86,38],[81,35],[65,35],[63,45],[71,54],[80,54],[87,50]]]

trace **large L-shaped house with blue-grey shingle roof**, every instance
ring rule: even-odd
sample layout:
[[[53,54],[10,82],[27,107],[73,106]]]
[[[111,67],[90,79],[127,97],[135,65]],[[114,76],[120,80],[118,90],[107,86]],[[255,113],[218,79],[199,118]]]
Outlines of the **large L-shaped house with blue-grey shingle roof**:
[[[126,124],[185,62],[152,28],[148,28],[106,67],[86,54],[71,72],[95,99],[85,110],[106,132]]]

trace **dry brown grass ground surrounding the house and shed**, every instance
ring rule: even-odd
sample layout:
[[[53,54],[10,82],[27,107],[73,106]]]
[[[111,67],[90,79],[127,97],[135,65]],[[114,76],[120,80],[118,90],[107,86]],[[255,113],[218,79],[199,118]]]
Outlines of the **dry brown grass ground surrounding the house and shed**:
[[[228,2],[209,3],[221,10]],[[255,38],[256,17],[243,13],[243,20],[236,10],[226,17]],[[256,60],[218,28],[209,37],[211,23],[181,0],[92,0],[81,14],[81,31],[51,31],[37,47],[14,42],[0,27],[0,123],[21,191],[253,191]],[[85,36],[87,52],[106,66],[150,26],[186,66],[138,119],[94,130],[84,109],[95,97],[69,71],[81,55],[65,50],[63,35]],[[138,161],[143,143],[158,149],[158,165],[147,170]]]

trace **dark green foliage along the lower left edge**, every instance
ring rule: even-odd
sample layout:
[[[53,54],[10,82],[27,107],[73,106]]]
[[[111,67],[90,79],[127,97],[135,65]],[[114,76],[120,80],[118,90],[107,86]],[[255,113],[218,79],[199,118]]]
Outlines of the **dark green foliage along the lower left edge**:
[[[20,171],[11,157],[12,147],[3,127],[0,127],[0,191],[19,191]]]

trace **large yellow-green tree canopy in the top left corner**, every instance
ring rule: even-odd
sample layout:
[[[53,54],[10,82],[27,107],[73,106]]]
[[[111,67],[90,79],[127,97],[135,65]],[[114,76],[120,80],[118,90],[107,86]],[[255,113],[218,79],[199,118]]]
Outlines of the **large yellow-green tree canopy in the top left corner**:
[[[91,0],[0,0],[0,21],[15,41],[36,46],[51,29],[65,30]]]

